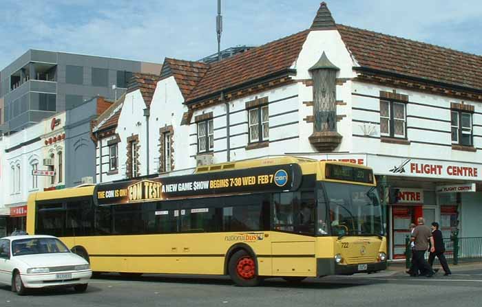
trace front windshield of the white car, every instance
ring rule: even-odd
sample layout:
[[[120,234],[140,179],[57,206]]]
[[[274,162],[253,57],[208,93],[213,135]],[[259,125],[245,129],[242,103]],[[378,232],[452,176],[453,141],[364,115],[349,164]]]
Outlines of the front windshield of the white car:
[[[70,253],[57,238],[28,238],[12,242],[12,255],[34,255],[37,253]]]

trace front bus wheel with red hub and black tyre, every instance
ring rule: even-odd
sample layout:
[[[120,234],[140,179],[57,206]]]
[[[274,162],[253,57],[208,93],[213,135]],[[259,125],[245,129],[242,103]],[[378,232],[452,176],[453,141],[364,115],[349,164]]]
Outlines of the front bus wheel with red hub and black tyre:
[[[260,277],[256,275],[256,261],[244,249],[236,251],[229,259],[228,271],[231,280],[238,286],[258,286]]]

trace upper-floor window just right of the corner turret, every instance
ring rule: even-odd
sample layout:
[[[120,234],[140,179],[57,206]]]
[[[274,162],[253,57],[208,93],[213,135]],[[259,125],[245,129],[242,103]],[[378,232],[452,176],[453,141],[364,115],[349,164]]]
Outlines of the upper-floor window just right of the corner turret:
[[[401,102],[380,100],[380,134],[406,138],[406,106]]]

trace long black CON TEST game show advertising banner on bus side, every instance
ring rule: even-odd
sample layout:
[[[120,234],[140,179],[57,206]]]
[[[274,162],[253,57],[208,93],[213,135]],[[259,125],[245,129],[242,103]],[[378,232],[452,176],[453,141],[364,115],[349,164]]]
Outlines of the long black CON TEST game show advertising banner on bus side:
[[[300,187],[297,164],[209,172],[178,177],[105,183],[96,186],[97,205],[121,205],[185,197],[292,191]]]

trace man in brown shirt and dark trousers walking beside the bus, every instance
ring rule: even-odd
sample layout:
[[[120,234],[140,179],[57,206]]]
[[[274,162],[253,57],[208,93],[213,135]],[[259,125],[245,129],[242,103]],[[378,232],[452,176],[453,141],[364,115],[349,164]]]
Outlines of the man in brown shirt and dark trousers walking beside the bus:
[[[415,243],[414,261],[415,268],[421,272],[426,273],[427,277],[433,277],[435,272],[432,270],[432,266],[425,260],[425,252],[428,250],[428,242],[431,243],[430,251],[434,252],[434,239],[432,237],[432,231],[425,225],[423,218],[417,219],[418,226],[413,229],[412,242]]]

